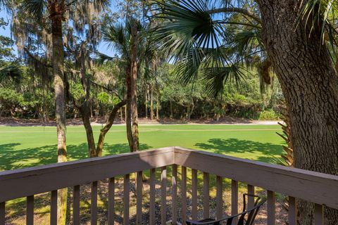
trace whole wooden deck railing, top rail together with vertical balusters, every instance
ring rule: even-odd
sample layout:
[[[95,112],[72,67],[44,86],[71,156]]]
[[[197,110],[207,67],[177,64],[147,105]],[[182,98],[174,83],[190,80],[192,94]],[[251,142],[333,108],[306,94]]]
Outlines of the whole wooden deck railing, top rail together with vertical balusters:
[[[167,168],[172,167],[171,181]],[[177,167],[180,177],[177,176]],[[161,221],[156,213],[156,169],[161,169]],[[191,168],[191,213],[187,214],[187,168]],[[123,224],[130,224],[130,174],[136,179],[136,224],[142,224],[142,172],[150,170],[149,224],[184,223],[198,218],[198,175],[203,172],[203,217],[210,215],[209,174],[216,176],[215,217],[223,216],[223,178],[231,179],[231,213],[237,214],[239,202],[238,182],[247,184],[247,192],[255,193],[255,187],[267,191],[268,224],[275,224],[275,193],[289,196],[288,222],[296,224],[296,198],[315,203],[315,224],[323,224],[323,207],[338,209],[338,176],[310,172],[303,169],[270,165],[264,162],[243,160],[230,156],[189,150],[180,147],[144,150],[137,153],[112,155],[65,162],[54,165],[15,169],[0,172],[0,225],[6,224],[6,201],[27,197],[26,223],[34,222],[34,195],[51,192],[50,223],[57,224],[57,191],[73,187],[73,224],[80,224],[80,186],[91,184],[91,224],[97,223],[98,181],[108,179],[108,224],[114,224],[115,176],[123,176]],[[190,180],[190,179],[189,179]],[[179,182],[180,181],[180,182]],[[167,186],[170,184],[170,205],[167,204]],[[180,191],[177,191],[180,189]],[[190,192],[190,190],[189,190]],[[142,201],[143,200],[143,201]],[[180,205],[180,207],[178,207]],[[253,199],[249,199],[253,205]],[[201,207],[200,207],[201,208]],[[170,210],[170,216],[167,214]],[[189,218],[187,218],[189,216]]]

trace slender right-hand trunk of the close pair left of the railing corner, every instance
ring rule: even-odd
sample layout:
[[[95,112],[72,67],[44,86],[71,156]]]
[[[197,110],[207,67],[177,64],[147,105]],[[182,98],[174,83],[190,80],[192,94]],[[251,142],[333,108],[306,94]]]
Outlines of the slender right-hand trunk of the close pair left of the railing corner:
[[[139,121],[137,115],[137,45],[138,31],[137,23],[132,23],[131,31],[131,101],[132,101],[132,151],[139,150]]]

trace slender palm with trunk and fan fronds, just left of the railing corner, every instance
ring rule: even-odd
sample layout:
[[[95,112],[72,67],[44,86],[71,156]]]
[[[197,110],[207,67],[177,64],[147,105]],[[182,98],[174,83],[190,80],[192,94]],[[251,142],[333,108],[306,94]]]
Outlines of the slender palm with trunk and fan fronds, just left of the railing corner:
[[[139,32],[142,25],[138,20],[130,18],[125,25],[122,23],[107,23],[103,30],[103,39],[109,46],[120,53],[120,60],[125,69],[125,81],[127,84],[127,107],[126,107],[126,127],[127,139],[131,151],[139,150],[139,132],[137,122],[137,69],[142,58],[139,51],[142,46],[142,37]],[[99,54],[101,62],[115,60]]]

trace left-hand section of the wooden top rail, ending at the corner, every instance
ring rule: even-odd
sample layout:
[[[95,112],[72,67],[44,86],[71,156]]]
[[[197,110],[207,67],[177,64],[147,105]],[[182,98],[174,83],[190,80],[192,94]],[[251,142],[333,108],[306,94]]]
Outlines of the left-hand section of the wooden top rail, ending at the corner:
[[[173,163],[170,147],[4,171],[0,172],[0,203]]]

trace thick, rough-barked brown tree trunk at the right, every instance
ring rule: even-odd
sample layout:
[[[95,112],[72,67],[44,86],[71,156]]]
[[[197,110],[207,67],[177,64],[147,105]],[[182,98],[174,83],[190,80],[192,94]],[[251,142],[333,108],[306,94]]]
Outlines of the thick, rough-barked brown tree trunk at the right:
[[[312,21],[297,26],[303,1],[257,1],[263,42],[291,117],[294,167],[338,175],[338,75],[320,46],[320,25],[312,32]],[[311,224],[313,205],[300,202],[299,214],[300,224]],[[337,210],[325,214],[327,224],[338,224]]]

